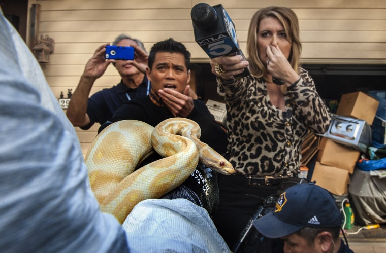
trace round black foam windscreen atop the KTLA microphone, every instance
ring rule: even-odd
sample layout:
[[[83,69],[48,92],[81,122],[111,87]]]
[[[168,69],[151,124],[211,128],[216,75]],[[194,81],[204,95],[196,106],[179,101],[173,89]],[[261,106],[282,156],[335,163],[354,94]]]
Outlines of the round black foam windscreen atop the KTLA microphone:
[[[206,3],[199,3],[191,8],[190,17],[200,29],[212,29],[218,24],[216,10]]]

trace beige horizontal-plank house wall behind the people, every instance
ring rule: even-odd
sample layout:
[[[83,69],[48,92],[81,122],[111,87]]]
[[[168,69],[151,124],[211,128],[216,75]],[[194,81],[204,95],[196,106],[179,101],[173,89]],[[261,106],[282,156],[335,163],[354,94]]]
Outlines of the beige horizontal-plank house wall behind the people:
[[[183,42],[193,62],[209,62],[196,44],[190,10],[199,0],[29,0],[40,4],[39,34],[55,40],[55,51],[43,71],[53,93],[75,89],[84,64],[95,48],[121,32],[139,38],[149,50],[159,40]],[[223,0],[245,51],[249,21],[270,5],[287,6],[298,15],[304,63],[386,64],[386,1],[384,0]],[[27,30],[28,32],[28,30]],[[28,38],[28,36],[27,36]],[[28,43],[28,42],[27,42]],[[111,65],[91,94],[119,82]],[[97,134],[77,128],[83,153]]]

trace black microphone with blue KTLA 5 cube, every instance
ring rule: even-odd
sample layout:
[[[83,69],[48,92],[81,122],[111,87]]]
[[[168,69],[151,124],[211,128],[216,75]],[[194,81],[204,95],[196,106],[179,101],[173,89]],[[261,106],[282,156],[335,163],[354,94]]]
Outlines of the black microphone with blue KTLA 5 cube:
[[[213,7],[206,3],[196,4],[190,12],[195,40],[210,58],[223,55],[244,54],[239,48],[235,25],[221,4]],[[250,74],[244,68],[243,73],[235,75],[241,78]]]

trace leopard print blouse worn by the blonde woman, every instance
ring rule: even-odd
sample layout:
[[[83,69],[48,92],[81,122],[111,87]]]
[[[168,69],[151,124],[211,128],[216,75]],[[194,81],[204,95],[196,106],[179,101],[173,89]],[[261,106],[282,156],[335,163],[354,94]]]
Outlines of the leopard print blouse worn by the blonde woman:
[[[324,133],[331,117],[308,72],[288,87],[285,112],[269,100],[263,79],[217,78],[227,105],[228,158],[236,173],[257,176],[300,172],[301,145],[308,130]]]

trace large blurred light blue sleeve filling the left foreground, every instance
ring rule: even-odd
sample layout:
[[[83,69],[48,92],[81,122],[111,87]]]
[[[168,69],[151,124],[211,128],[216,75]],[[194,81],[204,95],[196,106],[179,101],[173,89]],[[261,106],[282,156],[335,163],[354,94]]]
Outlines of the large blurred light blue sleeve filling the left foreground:
[[[124,230],[87,184],[74,129],[42,92],[49,87],[20,40],[0,11],[1,251],[128,251]]]

